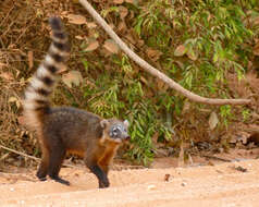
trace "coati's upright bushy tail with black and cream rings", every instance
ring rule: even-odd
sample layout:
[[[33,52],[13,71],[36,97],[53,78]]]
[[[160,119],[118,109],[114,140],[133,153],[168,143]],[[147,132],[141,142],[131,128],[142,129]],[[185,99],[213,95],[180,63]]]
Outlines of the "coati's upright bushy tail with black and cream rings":
[[[25,90],[23,102],[24,115],[28,126],[38,127],[41,119],[50,109],[49,96],[51,95],[55,75],[64,68],[70,52],[67,35],[60,17],[50,17],[49,24],[52,29],[52,42],[45,60],[32,77]]]

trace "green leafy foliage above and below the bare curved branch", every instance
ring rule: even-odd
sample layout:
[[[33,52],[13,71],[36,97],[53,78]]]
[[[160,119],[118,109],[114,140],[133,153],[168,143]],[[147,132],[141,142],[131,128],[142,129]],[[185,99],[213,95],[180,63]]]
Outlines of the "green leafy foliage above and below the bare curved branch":
[[[201,96],[227,98],[231,94],[225,87],[226,74],[236,73],[240,80],[247,70],[251,52],[248,42],[255,34],[244,20],[247,19],[247,10],[255,8],[256,3],[155,0],[135,7],[124,5],[136,15],[127,23],[158,57],[150,58],[147,51],[150,61],[157,62],[165,74]],[[118,7],[102,10],[106,17],[112,13],[119,16]],[[156,147],[152,143],[155,133],[159,133],[162,141],[172,138],[171,132],[177,122],[161,123],[166,122],[166,117],[181,115],[183,99],[173,96],[166,87],[160,87],[156,80],[145,81],[146,75],[132,70],[132,62],[124,56],[113,56],[110,61],[118,68],[102,73],[106,81],[101,83],[109,88],[99,98],[91,99],[91,110],[102,115],[128,117],[134,143],[128,155],[147,163]],[[102,75],[99,78],[103,78]],[[99,81],[96,82],[98,85]],[[233,118],[231,107],[221,107],[219,113],[227,126]]]

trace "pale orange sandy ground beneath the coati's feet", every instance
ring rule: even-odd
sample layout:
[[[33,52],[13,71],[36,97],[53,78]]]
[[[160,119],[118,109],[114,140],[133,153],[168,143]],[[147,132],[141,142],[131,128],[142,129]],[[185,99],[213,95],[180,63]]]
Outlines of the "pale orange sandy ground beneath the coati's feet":
[[[161,158],[152,169],[111,171],[111,187],[104,190],[97,188],[96,178],[85,168],[62,168],[61,176],[71,186],[39,182],[35,170],[0,173],[0,206],[256,207],[259,160],[246,155],[217,156],[232,162],[194,158],[183,168],[174,168],[173,158]]]

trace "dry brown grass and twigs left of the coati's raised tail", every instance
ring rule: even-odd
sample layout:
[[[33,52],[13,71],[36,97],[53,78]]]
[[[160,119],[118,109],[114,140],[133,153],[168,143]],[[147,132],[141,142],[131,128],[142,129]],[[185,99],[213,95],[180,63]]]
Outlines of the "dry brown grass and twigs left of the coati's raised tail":
[[[21,98],[26,80],[41,61],[49,45],[47,19],[67,10],[66,5],[71,5],[67,2],[4,0],[1,3],[0,144],[3,146],[29,155],[38,151],[36,138],[21,124]],[[8,150],[0,150],[0,162],[8,160],[11,155],[16,157],[14,154],[7,155]]]

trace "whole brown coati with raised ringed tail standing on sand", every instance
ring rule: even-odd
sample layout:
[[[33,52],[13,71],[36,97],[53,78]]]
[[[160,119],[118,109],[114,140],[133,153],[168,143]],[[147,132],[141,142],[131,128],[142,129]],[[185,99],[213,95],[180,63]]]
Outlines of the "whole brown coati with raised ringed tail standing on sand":
[[[37,132],[42,157],[37,178],[47,174],[57,182],[69,185],[59,176],[65,154],[84,157],[86,166],[96,174],[99,187],[108,187],[109,166],[119,145],[130,138],[128,122],[102,119],[91,112],[72,107],[51,107],[55,75],[63,68],[70,52],[67,35],[60,17],[49,19],[52,44],[45,60],[32,77],[23,101],[27,125]]]

